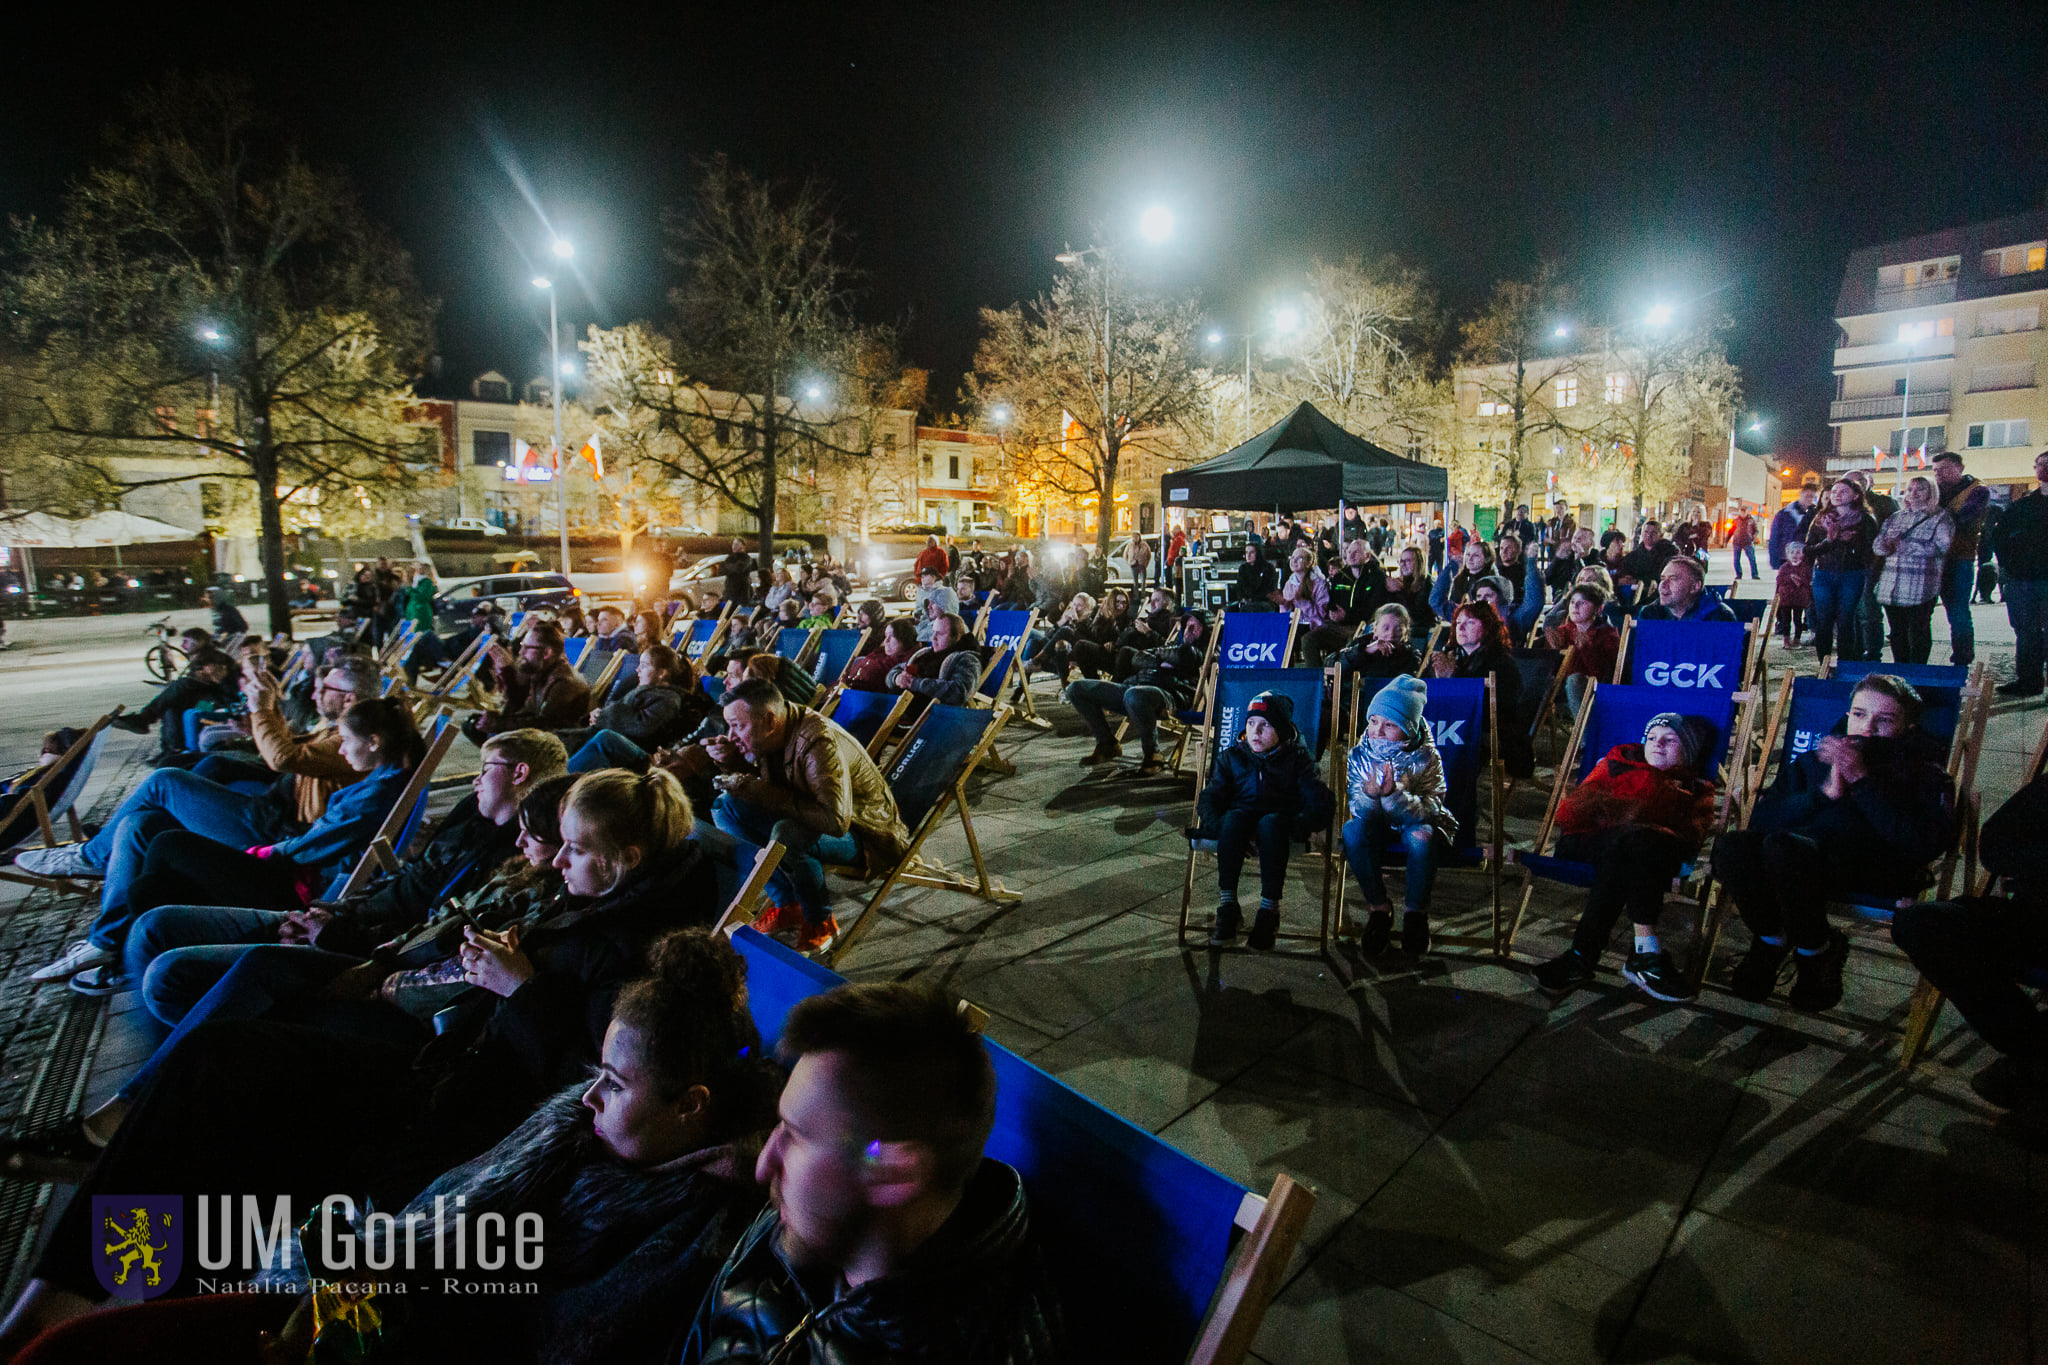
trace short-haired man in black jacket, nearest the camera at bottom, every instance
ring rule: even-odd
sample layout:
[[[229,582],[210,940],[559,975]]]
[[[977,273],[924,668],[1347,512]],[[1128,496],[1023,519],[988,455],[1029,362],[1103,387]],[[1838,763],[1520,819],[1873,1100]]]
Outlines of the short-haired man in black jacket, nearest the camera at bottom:
[[[995,1068],[934,986],[803,999],[754,1179],[770,1207],[727,1257],[682,1365],[1069,1359],[1024,1181],[983,1156]]]

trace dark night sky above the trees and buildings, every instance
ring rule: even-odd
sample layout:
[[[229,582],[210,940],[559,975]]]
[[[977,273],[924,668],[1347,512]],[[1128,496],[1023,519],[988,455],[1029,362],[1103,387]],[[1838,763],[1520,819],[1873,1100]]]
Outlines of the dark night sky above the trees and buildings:
[[[1169,205],[1163,284],[1229,325],[1313,254],[1419,262],[1466,311],[1563,258],[1583,315],[1704,299],[1769,444],[1827,444],[1845,254],[2044,203],[2048,4],[416,6],[94,16],[14,41],[0,209],[47,213],[125,90],[233,70],[348,170],[440,297],[451,379],[659,315],[692,162],[825,182],[950,403],[981,305]],[[18,37],[18,35],[16,35]]]

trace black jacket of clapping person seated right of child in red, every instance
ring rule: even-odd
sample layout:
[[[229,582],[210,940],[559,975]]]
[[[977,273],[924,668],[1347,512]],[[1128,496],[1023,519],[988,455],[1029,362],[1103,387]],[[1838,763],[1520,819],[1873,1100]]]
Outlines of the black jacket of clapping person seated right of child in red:
[[[1847,733],[1847,720],[1829,733]],[[1858,886],[1843,890],[1917,892],[1933,882],[1929,864],[1956,841],[1956,784],[1944,769],[1944,749],[1917,726],[1898,739],[1860,743],[1868,774],[1841,800],[1821,792],[1829,769],[1808,751],[1778,769],[1749,829],[1815,839],[1837,868],[1858,870]]]

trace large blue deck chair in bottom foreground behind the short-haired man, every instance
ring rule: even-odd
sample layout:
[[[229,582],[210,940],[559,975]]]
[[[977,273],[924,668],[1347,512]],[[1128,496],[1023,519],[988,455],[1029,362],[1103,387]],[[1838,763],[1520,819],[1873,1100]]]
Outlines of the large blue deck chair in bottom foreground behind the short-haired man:
[[[754,929],[733,933],[733,948],[770,1050],[797,1001],[844,984]],[[1071,1336],[1090,1342],[1090,1359],[1130,1365],[1241,1361],[1315,1195],[1282,1175],[1262,1197],[1001,1044],[987,1048],[995,1126],[983,1152],[1024,1179]]]

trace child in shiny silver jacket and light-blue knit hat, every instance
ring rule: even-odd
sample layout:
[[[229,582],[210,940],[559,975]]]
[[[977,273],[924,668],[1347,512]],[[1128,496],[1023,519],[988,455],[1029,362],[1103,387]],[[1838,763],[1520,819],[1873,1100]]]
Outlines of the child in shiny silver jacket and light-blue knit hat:
[[[1382,872],[1389,845],[1399,843],[1407,855],[1401,948],[1425,954],[1436,853],[1458,833],[1444,804],[1444,759],[1421,714],[1425,698],[1419,677],[1391,679],[1366,708],[1366,733],[1346,761],[1352,819],[1343,823],[1343,860],[1366,892],[1366,923],[1346,915],[1346,933],[1358,933],[1368,954],[1384,952],[1393,937],[1395,907]]]

